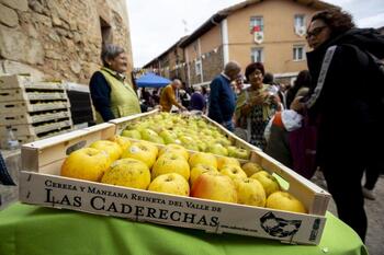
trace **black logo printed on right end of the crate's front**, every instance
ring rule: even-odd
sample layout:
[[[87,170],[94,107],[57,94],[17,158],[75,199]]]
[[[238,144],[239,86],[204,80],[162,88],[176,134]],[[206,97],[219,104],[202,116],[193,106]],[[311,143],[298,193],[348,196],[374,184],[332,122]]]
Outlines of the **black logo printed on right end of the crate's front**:
[[[269,234],[275,237],[286,237],[294,235],[301,224],[301,220],[284,220],[275,217],[272,212],[266,213],[260,218],[261,228]]]

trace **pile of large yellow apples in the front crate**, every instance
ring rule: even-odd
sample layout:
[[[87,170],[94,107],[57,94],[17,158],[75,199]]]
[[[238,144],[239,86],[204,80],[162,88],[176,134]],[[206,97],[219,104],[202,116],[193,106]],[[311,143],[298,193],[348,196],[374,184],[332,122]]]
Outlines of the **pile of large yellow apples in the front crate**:
[[[82,162],[79,164],[79,162]],[[92,167],[89,167],[92,165]],[[61,175],[151,192],[305,213],[304,205],[256,163],[190,153],[122,136],[99,140],[65,159]]]

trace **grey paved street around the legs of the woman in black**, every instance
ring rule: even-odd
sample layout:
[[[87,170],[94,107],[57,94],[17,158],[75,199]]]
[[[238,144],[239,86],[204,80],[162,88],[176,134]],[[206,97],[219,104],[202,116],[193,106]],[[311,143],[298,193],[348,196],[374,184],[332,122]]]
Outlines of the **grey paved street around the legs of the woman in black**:
[[[324,187],[320,182],[314,181]],[[370,255],[384,255],[384,175],[381,175],[375,186],[375,200],[365,199],[365,211],[368,215],[366,246]],[[328,210],[337,216],[335,202],[328,206]]]

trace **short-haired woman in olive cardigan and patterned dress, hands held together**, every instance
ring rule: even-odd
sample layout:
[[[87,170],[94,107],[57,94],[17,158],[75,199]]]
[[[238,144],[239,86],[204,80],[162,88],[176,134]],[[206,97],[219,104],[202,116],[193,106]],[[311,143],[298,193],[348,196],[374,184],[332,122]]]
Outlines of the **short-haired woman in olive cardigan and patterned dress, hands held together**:
[[[264,84],[264,66],[253,62],[246,68],[246,79],[250,86],[242,90],[236,104],[236,124],[248,130],[248,140],[251,144],[266,149],[264,129],[276,109],[280,109],[279,96]],[[249,139],[250,138],[250,139]]]

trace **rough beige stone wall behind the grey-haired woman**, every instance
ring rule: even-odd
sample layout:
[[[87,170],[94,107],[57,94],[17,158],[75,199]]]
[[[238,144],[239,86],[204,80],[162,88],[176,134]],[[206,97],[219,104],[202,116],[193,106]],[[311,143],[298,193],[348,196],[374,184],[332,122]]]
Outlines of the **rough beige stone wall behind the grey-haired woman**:
[[[133,68],[124,0],[0,0],[0,72],[88,83],[101,65],[100,19]]]

